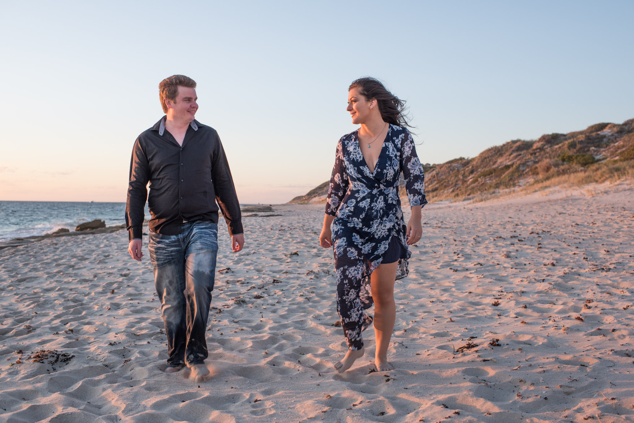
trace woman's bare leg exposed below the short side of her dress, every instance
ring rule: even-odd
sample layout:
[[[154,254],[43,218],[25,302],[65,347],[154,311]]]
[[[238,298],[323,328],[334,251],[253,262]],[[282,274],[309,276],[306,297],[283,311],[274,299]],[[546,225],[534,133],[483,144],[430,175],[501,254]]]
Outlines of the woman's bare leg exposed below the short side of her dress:
[[[396,304],[394,303],[394,281],[398,262],[379,264],[372,272],[372,299],[374,300],[374,333],[377,339],[377,352],[374,363],[378,371],[393,370],[387,362],[387,348],[390,346],[394,320],[396,320]]]

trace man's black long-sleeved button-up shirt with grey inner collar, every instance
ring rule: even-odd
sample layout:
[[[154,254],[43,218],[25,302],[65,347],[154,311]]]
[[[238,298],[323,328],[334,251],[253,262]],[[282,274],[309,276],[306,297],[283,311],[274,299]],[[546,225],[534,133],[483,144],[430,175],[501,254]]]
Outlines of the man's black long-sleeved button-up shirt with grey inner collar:
[[[184,221],[217,223],[220,205],[230,235],[243,233],[223,145],[215,129],[197,120],[187,128],[183,146],[165,130],[165,117],[134,141],[126,204],[131,240],[143,237],[146,200],[153,232],[178,235]]]

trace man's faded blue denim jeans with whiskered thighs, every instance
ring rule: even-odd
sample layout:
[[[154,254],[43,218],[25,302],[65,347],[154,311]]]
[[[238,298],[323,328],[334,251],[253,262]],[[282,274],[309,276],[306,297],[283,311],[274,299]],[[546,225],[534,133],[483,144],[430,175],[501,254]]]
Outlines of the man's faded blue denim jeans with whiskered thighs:
[[[179,235],[150,231],[150,259],[167,334],[167,365],[202,364],[218,252],[216,223],[187,222]]]

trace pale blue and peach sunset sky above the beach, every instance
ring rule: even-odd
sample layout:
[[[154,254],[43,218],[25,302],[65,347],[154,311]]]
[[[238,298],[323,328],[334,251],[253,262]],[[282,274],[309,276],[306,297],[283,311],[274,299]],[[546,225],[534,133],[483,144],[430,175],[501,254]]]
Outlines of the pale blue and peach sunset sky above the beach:
[[[347,86],[407,101],[422,162],[634,118],[634,2],[3,2],[0,200],[125,201],[158,84],[198,83],[242,203],[330,178]]]

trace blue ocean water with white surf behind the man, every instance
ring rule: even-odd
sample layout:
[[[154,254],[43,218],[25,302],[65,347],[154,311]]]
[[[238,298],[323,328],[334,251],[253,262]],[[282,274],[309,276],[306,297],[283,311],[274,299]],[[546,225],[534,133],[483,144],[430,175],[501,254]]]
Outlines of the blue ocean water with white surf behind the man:
[[[60,228],[74,231],[75,226],[94,219],[107,226],[122,225],[126,203],[0,201],[0,240],[44,235]],[[146,207],[146,218],[150,213]]]

